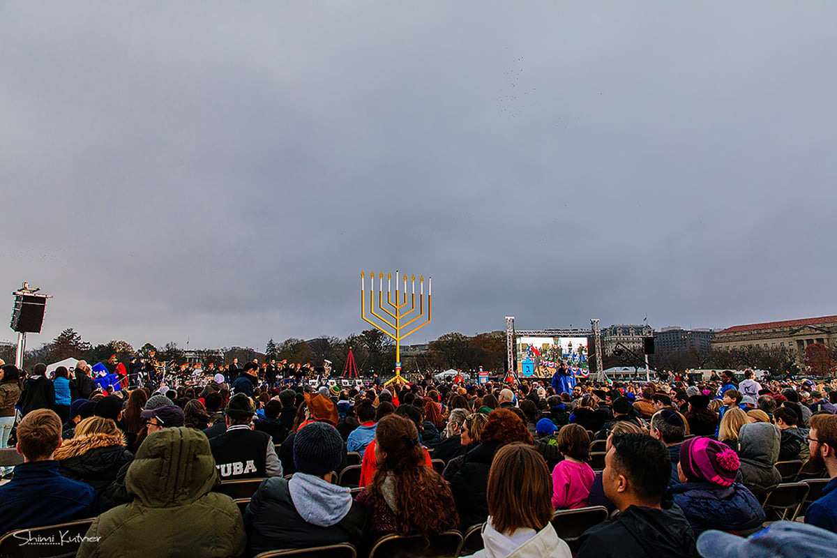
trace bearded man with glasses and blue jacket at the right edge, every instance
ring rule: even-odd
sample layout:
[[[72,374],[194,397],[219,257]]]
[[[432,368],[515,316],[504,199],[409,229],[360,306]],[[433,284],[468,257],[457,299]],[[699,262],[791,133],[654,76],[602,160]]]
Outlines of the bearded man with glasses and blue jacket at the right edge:
[[[828,469],[831,481],[820,499],[805,512],[805,523],[837,533],[837,415],[811,417],[811,432],[805,438],[814,464]]]

